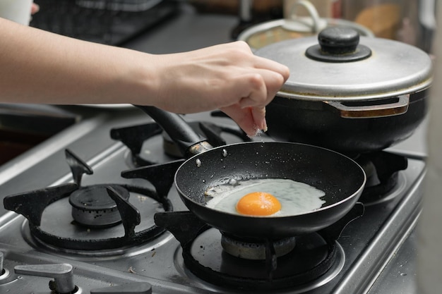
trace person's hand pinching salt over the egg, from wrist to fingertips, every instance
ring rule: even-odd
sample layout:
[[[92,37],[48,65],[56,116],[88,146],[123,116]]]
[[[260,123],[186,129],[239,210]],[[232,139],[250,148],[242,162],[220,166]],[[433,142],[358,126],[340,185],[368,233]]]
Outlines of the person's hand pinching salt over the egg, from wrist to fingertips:
[[[176,113],[220,109],[248,135],[267,129],[265,106],[289,78],[286,66],[253,55],[245,42],[155,59],[156,106]]]

